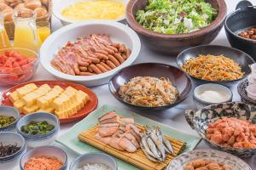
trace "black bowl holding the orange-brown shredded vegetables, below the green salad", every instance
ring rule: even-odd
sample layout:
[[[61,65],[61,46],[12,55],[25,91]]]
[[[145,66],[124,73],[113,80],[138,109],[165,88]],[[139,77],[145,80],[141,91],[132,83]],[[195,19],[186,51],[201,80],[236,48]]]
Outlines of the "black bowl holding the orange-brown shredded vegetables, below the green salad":
[[[195,58],[199,54],[212,54],[212,55],[221,55],[223,54],[226,57],[229,57],[231,59],[234,59],[236,63],[238,63],[241,66],[241,71],[244,72],[244,77],[247,77],[248,74],[250,74],[251,69],[249,65],[252,65],[254,63],[254,60],[251,58],[250,55],[242,52],[241,50],[238,50],[236,48],[229,48],[224,46],[218,46],[218,45],[201,45],[194,48],[189,48],[184,50],[182,53],[177,55],[177,65],[179,68],[182,67],[185,60],[190,58]],[[195,77],[192,77],[193,81],[196,85],[204,84],[204,83],[219,83],[226,86],[231,86],[235,82],[243,79],[244,77],[233,80],[233,81],[224,81],[224,82],[214,82],[214,81],[207,81],[198,79]]]

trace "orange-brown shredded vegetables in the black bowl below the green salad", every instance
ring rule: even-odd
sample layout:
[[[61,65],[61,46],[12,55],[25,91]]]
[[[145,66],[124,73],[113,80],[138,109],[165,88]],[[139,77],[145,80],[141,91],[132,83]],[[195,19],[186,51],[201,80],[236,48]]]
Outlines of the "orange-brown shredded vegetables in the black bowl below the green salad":
[[[182,69],[191,77],[214,82],[232,81],[244,76],[241,66],[224,55],[200,54],[196,58],[187,59]]]

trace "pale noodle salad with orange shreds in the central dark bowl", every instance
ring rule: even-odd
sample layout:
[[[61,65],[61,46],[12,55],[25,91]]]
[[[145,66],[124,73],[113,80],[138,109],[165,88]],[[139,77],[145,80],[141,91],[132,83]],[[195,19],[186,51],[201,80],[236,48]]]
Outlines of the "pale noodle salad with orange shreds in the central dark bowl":
[[[134,77],[119,88],[119,95],[132,105],[158,107],[175,103],[178,91],[164,77]]]

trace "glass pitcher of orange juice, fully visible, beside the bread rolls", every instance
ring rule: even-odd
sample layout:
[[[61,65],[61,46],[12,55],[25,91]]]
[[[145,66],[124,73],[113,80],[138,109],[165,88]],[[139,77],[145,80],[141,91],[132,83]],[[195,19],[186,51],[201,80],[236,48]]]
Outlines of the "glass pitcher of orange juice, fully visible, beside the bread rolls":
[[[13,20],[15,21],[15,48],[29,48],[38,51],[41,40],[36,26],[37,14],[32,10],[18,11],[15,9]]]

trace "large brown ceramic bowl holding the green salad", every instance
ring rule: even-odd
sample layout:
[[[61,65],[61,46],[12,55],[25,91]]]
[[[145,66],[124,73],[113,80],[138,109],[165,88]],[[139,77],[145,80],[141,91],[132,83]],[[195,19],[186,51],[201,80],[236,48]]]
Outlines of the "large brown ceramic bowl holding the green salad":
[[[126,20],[128,25],[146,42],[148,48],[162,54],[176,56],[186,48],[208,44],[218,36],[227,14],[226,4],[224,0],[207,0],[207,2],[218,9],[218,16],[209,26],[186,34],[162,34],[139,25],[135,14],[147,6],[148,0],[131,0],[126,7]]]

